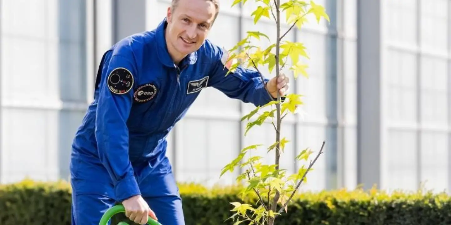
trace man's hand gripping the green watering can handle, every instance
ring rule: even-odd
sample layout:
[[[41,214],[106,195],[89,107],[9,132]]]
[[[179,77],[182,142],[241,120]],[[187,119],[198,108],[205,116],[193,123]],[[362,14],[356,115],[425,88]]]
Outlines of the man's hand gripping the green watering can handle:
[[[125,216],[137,224],[147,224],[147,220],[149,219],[148,216],[157,220],[155,213],[150,209],[141,195],[136,195],[124,200],[122,205],[124,205],[125,208]]]

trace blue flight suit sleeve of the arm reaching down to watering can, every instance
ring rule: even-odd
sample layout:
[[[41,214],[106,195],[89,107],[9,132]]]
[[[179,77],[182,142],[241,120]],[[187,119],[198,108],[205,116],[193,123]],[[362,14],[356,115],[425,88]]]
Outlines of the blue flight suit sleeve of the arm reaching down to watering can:
[[[96,139],[101,163],[110,174],[115,197],[123,201],[140,190],[129,160],[127,119],[133,101],[136,66],[122,55],[106,58],[99,86]]]

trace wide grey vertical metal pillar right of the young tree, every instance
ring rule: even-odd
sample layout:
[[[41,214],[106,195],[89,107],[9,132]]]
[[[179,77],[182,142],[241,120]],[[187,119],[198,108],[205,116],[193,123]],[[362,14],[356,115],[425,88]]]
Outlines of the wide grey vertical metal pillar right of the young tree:
[[[381,181],[381,4],[379,0],[357,2],[357,182],[364,188]]]

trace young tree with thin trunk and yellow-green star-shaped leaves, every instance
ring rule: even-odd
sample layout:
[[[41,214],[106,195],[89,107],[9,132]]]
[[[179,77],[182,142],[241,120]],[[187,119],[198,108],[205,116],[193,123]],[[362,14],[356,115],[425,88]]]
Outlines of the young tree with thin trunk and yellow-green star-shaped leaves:
[[[249,0],[235,0],[232,7],[237,4],[246,4]],[[284,37],[292,31],[296,26],[301,29],[303,24],[307,22],[306,16],[313,14],[316,21],[319,23],[321,18],[327,19],[329,17],[325,9],[321,5],[317,5],[314,1],[302,0],[288,0],[281,4],[280,0],[253,0],[258,3],[257,9],[253,11],[251,16],[254,19],[254,24],[257,24],[260,18],[267,17],[273,19],[276,23],[276,40],[271,41],[267,34],[259,31],[249,31],[247,36],[239,41],[236,46],[230,50],[230,57],[228,62],[231,62],[230,70],[233,72],[239,65],[243,67],[253,67],[259,73],[259,66],[267,67],[269,72],[273,70],[276,72],[276,77],[279,77],[282,69],[287,65],[287,61],[291,60],[292,66],[290,70],[294,74],[294,78],[298,78],[299,74],[308,77],[306,72],[307,64],[303,64],[299,58],[304,57],[308,59],[306,48],[303,43],[291,42],[284,40]],[[281,34],[281,14],[285,13],[286,23],[291,24],[290,28]],[[266,38],[272,44],[266,49],[260,46],[253,46],[250,43],[251,38]],[[260,73],[261,74],[261,73]],[[268,95],[269,92],[268,92]],[[249,224],[249,225],[273,225],[276,217],[284,210],[287,211],[287,205],[297,192],[299,186],[305,181],[308,171],[311,170],[313,164],[322,154],[325,142],[322,142],[322,147],[313,161],[310,160],[307,168],[302,166],[299,171],[290,176],[286,176],[286,170],[280,168],[279,161],[281,153],[284,151],[285,144],[289,142],[286,138],[281,138],[281,123],[286,115],[289,113],[295,114],[297,108],[302,105],[301,95],[288,94],[287,96],[277,95],[277,100],[268,103],[265,106],[256,107],[248,115],[242,118],[242,121],[248,120],[244,136],[254,126],[260,126],[263,123],[270,122],[276,132],[276,141],[265,151],[275,153],[275,163],[266,165],[262,163],[261,156],[251,156],[252,151],[257,151],[262,147],[262,144],[254,144],[245,147],[237,158],[224,166],[221,171],[221,176],[226,172],[233,172],[237,166],[243,169],[236,180],[239,183],[244,183],[242,190],[243,195],[249,193],[255,194],[258,197],[258,202],[255,204],[231,202],[234,206],[232,211],[235,213],[230,217],[235,220],[235,225]],[[273,108],[275,107],[275,109]],[[266,110],[266,109],[270,110]],[[274,122],[276,119],[276,122]],[[247,159],[244,158],[249,153]],[[296,157],[296,160],[308,161],[313,152],[310,149],[304,149]],[[253,207],[255,206],[255,207]],[[277,208],[279,206],[279,208]]]

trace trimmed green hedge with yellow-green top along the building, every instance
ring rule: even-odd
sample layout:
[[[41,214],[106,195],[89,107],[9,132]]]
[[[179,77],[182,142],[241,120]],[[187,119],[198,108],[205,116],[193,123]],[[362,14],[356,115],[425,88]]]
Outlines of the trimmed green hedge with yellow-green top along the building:
[[[186,225],[228,225],[229,202],[241,201],[236,187],[179,184]],[[248,200],[254,200],[252,196]],[[0,225],[70,225],[70,185],[24,180],[0,186]],[[125,219],[113,218],[113,224]],[[300,193],[276,220],[280,225],[449,225],[451,198],[445,193],[385,193],[372,189]]]

